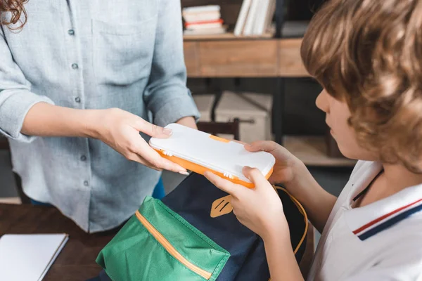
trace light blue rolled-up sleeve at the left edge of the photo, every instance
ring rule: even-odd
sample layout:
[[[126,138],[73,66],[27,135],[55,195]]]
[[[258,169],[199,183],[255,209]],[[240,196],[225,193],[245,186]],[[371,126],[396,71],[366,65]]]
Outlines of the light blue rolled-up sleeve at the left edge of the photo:
[[[27,112],[36,103],[54,103],[46,96],[31,92],[30,82],[13,60],[3,28],[0,27],[0,133],[29,143],[34,137],[20,133]]]

